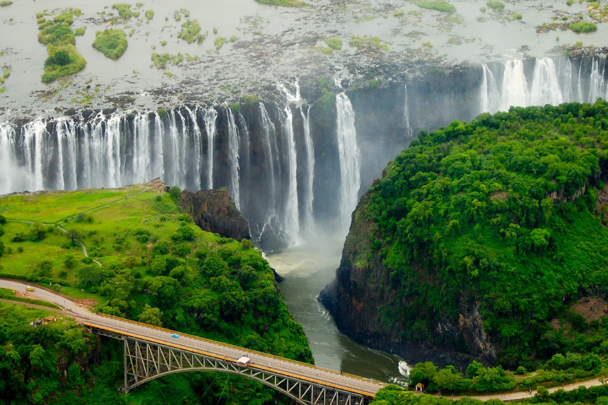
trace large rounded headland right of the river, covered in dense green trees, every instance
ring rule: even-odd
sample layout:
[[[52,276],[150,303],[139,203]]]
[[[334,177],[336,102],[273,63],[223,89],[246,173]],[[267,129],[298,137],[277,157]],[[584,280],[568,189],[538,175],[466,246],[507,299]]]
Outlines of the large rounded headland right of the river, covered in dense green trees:
[[[421,133],[362,197],[322,301],[415,360],[424,345],[509,368],[606,355],[607,146],[602,100]]]

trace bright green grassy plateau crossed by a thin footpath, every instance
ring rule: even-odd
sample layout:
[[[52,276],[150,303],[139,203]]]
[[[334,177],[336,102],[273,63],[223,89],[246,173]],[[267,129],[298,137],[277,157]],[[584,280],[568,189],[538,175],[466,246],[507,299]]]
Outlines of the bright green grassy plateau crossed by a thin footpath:
[[[52,282],[61,293],[92,299],[98,305],[107,299],[77,287],[79,272],[98,267],[91,258],[99,260],[103,268],[133,268],[146,277],[151,275],[146,257],[153,245],[176,244],[171,236],[179,228],[186,226],[196,236],[196,243],[183,243],[190,256],[196,248],[218,239],[201,231],[190,216],[179,213],[169,194],[146,191],[145,185],[8,196],[0,199],[0,214],[7,219],[0,236],[5,246],[1,274],[33,284]],[[57,224],[69,234],[44,223]],[[29,240],[36,229],[43,230],[44,238]],[[24,240],[15,240],[19,235]],[[89,258],[70,235],[85,244]]]

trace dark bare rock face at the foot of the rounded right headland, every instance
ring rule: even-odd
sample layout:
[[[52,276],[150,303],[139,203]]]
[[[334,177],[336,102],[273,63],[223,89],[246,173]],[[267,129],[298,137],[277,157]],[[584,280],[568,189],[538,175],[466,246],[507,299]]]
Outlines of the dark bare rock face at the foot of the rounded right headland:
[[[378,180],[374,185],[377,183]],[[407,339],[407,319],[404,318],[407,315],[395,313],[393,304],[400,301],[407,305],[408,299],[391,281],[390,270],[384,267],[372,246],[378,223],[367,214],[370,197],[368,191],[353,213],[336,279],[319,294],[319,301],[328,308],[337,327],[355,341],[396,353],[412,363],[434,361],[439,366],[466,367],[472,355],[494,362],[495,349],[483,332],[475,304],[460,305],[461,313],[455,321],[440,316],[440,321],[428,325],[426,342]],[[418,270],[418,282],[427,285],[434,282],[424,268]],[[463,345],[465,341],[469,347],[459,348],[458,344]]]

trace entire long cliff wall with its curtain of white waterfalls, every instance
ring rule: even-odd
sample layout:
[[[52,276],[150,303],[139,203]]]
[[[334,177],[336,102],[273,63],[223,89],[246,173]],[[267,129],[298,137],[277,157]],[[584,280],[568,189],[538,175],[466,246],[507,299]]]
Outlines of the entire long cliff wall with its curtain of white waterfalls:
[[[0,193],[155,177],[193,191],[226,187],[253,239],[276,250],[316,227],[345,234],[359,196],[412,134],[510,105],[606,98],[607,73],[606,56],[533,58],[386,87],[337,84],[322,97],[316,83],[295,81],[277,85],[278,101],[3,121]]]

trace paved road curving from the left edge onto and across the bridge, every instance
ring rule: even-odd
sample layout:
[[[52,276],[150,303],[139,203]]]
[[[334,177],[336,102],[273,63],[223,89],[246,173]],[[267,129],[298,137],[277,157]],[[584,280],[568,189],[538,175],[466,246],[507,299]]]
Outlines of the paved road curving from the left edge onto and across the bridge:
[[[251,359],[251,367],[254,369],[271,369],[274,370],[274,372],[283,375],[297,375],[308,381],[314,381],[325,386],[339,387],[340,389],[350,392],[373,396],[379,389],[386,386],[384,383],[373,381],[368,378],[345,375],[334,370],[322,369],[311,366],[310,364],[292,361],[278,356],[252,352],[243,349],[242,347],[227,345],[209,339],[198,338],[196,336],[182,335],[179,332],[151,327],[149,325],[129,321],[128,319],[98,315],[89,312],[86,308],[80,307],[77,303],[72,302],[63,296],[59,296],[52,291],[47,291],[40,287],[36,287],[35,291],[26,291],[26,286],[27,284],[21,282],[0,280],[0,287],[2,288],[10,288],[25,293],[32,299],[43,299],[44,301],[54,302],[55,304],[60,305],[60,307],[66,308],[79,323],[95,325],[119,333],[127,333],[128,335],[143,340],[155,339],[186,350],[204,352],[217,358],[226,358],[235,362],[238,358],[245,355]],[[178,333],[180,335],[179,338],[172,338],[172,333]]]

